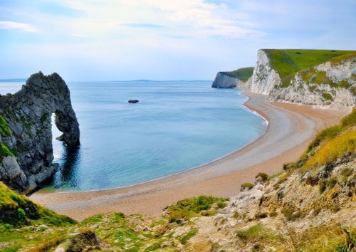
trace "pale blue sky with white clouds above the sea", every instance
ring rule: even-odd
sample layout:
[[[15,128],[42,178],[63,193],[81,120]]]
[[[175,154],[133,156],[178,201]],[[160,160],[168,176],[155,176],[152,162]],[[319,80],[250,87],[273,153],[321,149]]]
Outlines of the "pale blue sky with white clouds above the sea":
[[[356,50],[355,0],[0,0],[0,79],[213,80],[260,48]]]

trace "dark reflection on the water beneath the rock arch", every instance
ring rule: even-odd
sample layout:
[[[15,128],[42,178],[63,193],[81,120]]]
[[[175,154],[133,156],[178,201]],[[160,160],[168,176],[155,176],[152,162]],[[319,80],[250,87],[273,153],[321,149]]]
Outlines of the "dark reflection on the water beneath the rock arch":
[[[61,159],[58,172],[53,177],[54,188],[78,186],[78,166],[80,164],[80,145],[68,147],[63,144],[63,158]]]

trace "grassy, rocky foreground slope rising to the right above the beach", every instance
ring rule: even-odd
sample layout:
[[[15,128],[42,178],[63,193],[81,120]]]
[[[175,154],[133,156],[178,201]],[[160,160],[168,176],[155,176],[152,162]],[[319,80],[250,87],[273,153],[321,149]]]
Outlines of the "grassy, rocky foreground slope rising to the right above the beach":
[[[355,184],[353,110],[283,172],[257,174],[231,199],[199,196],[168,206],[160,218],[102,214],[80,224],[56,215],[61,221],[31,220],[12,203],[15,218],[24,212],[28,222],[1,219],[0,251],[355,251]],[[0,194],[1,209],[16,197],[28,202],[2,184]]]

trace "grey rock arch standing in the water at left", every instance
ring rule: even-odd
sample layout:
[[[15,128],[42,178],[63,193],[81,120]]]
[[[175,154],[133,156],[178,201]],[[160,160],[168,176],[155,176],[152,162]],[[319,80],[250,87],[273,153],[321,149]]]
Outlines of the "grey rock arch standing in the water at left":
[[[79,124],[68,86],[57,73],[31,75],[19,92],[0,96],[0,180],[11,189],[31,191],[56,172],[52,164],[52,125],[55,114],[58,140],[79,144]]]

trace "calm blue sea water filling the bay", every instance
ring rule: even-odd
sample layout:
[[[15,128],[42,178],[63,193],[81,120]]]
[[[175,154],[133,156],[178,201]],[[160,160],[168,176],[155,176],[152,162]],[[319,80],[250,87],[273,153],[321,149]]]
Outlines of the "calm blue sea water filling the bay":
[[[14,93],[22,83],[0,83]],[[68,82],[80,147],[53,141],[60,164],[49,189],[124,187],[182,172],[256,140],[266,130],[236,89],[210,81]],[[137,99],[140,103],[129,104]],[[61,135],[56,127],[53,137]]]

